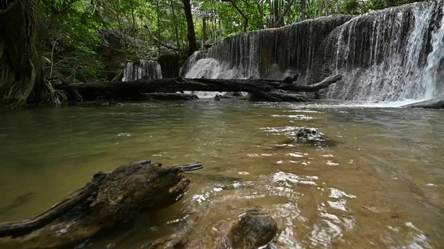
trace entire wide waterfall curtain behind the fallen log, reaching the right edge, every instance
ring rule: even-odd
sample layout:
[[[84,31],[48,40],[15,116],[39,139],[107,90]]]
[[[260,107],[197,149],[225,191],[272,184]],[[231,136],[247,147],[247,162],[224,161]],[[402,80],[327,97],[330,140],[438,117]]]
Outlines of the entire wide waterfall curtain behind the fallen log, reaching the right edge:
[[[444,93],[443,6],[443,0],[412,3],[234,35],[192,56],[184,75],[283,79],[300,73],[298,84],[314,84],[340,73],[343,80],[320,98],[432,98]]]

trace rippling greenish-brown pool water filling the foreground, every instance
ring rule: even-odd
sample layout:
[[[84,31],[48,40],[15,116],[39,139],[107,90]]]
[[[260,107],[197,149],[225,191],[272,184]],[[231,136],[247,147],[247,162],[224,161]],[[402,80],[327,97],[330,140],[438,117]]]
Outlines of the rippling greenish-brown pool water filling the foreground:
[[[1,113],[0,222],[37,214],[117,165],[200,160],[180,203],[77,248],[139,248],[190,210],[202,215],[191,245],[212,248],[255,206],[278,221],[274,248],[444,248],[443,114],[226,100]],[[283,144],[302,126],[327,142]]]

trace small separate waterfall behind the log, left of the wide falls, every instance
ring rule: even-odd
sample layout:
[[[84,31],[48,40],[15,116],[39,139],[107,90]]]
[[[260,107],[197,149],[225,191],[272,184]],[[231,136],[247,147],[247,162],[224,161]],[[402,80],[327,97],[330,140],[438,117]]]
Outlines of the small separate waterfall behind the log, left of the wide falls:
[[[122,81],[139,80],[144,76],[148,79],[162,79],[160,64],[155,61],[130,62],[123,70]]]

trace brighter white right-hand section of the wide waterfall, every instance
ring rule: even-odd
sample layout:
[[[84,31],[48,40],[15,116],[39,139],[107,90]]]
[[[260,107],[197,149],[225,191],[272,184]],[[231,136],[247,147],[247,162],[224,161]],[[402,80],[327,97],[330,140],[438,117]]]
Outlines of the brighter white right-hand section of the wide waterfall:
[[[323,71],[322,76],[344,75],[341,82],[330,86],[326,97],[384,101],[425,98],[427,87],[435,84],[434,76],[425,77],[425,65],[431,50],[431,30],[438,22],[437,10],[436,2],[413,3],[370,12],[336,28],[326,39],[330,48],[325,48],[315,62],[320,64],[317,71]],[[432,49],[436,49],[432,54],[442,53]],[[321,80],[318,75],[312,75],[311,80]]]

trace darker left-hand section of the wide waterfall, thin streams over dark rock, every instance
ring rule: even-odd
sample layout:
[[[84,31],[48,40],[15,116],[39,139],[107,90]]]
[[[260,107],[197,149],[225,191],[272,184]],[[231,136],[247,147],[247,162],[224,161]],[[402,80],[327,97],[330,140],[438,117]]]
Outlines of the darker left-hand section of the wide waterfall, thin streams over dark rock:
[[[234,35],[214,44],[206,54],[209,66],[194,63],[185,77],[218,78],[270,77],[284,78],[296,72],[305,73],[323,38],[337,26],[352,19],[339,15],[301,21],[291,26],[258,30]],[[191,56],[190,59],[195,59]],[[216,59],[219,64],[214,62]]]

